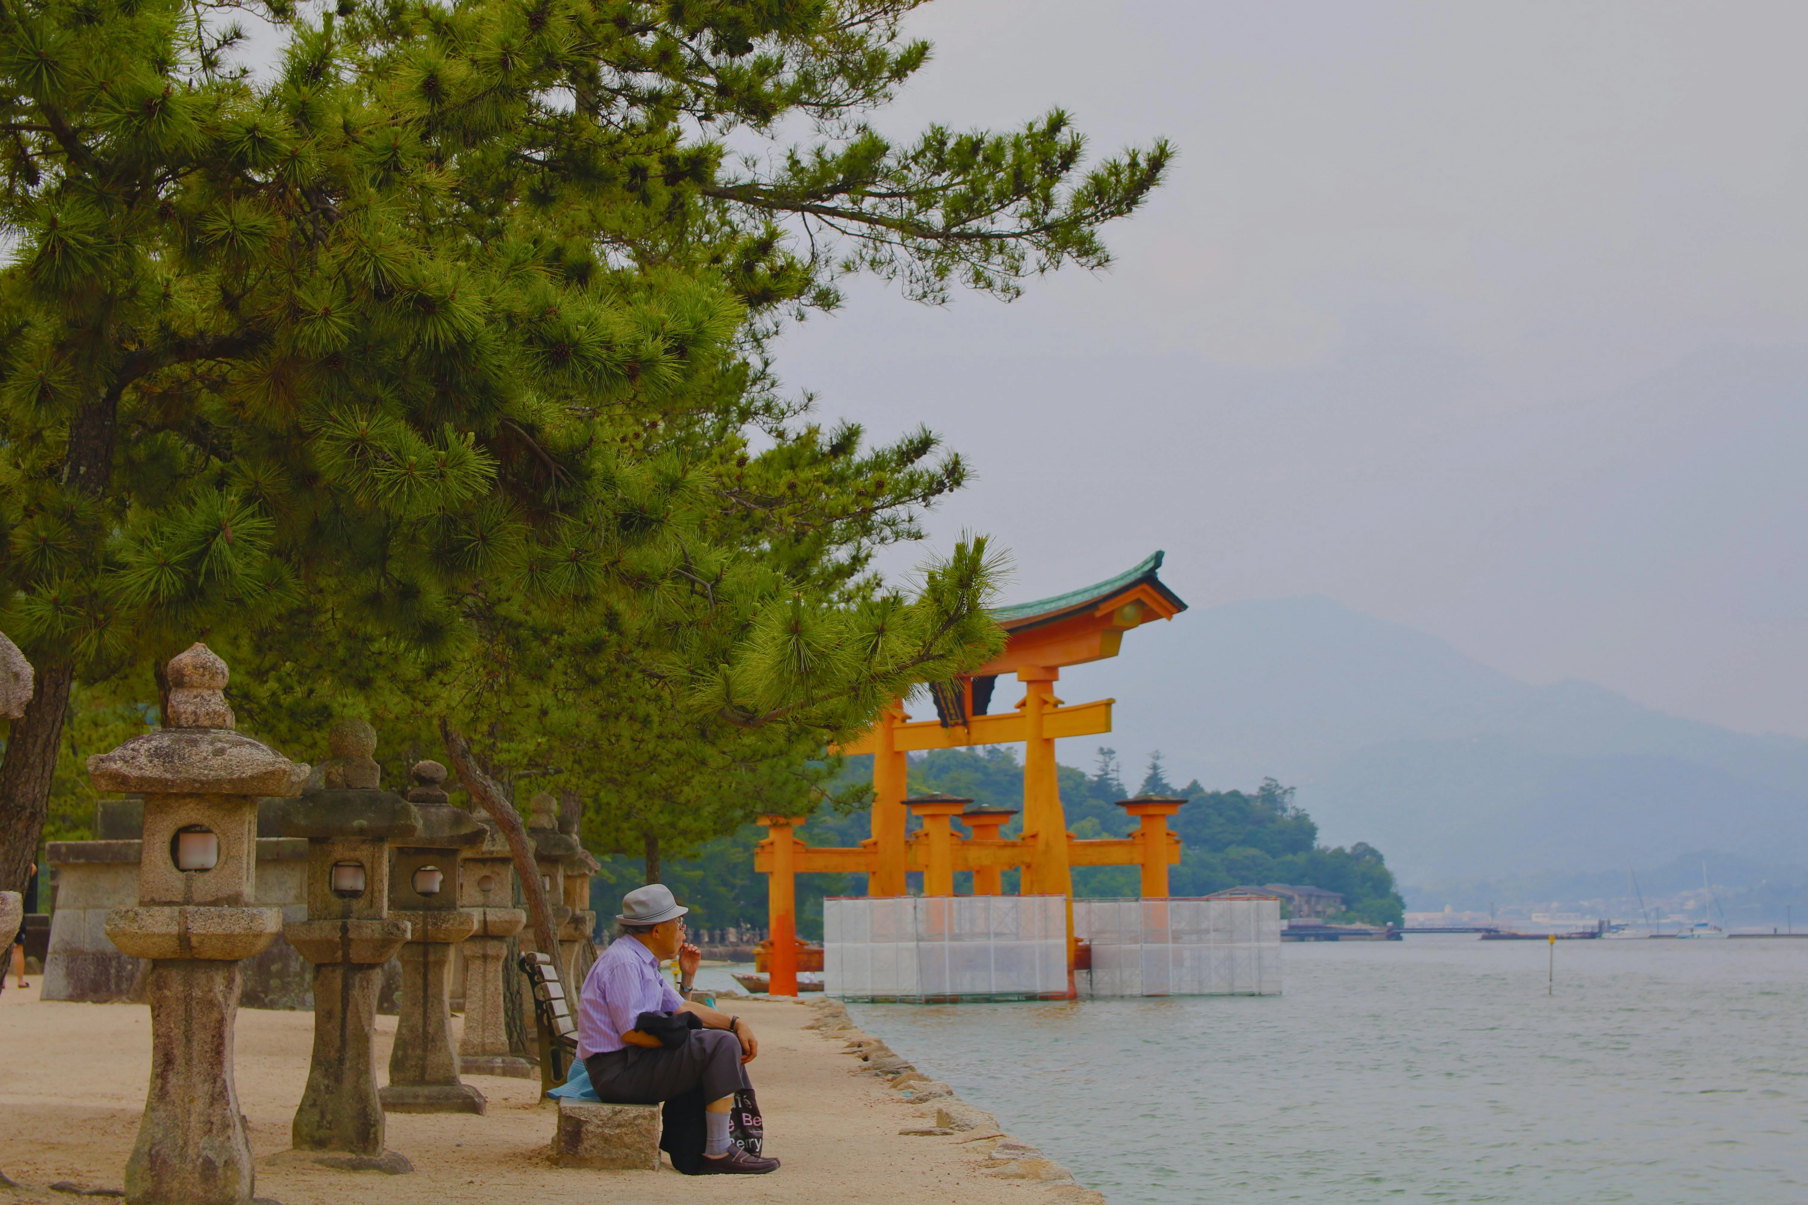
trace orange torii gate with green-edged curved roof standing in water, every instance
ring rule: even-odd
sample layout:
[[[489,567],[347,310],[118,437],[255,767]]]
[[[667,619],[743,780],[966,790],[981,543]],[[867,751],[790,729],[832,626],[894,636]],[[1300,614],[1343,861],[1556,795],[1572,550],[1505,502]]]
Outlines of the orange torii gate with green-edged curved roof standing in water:
[[[761,817],[767,838],[754,853],[754,869],[768,874],[768,974],[776,995],[797,994],[796,874],[866,874],[866,894],[906,894],[906,874],[920,871],[924,894],[955,894],[955,871],[973,871],[975,894],[998,894],[1007,869],[1022,869],[1023,894],[1059,894],[1072,901],[1076,865],[1141,865],[1143,896],[1168,894],[1168,867],[1181,860],[1181,840],[1168,817],[1184,800],[1134,799],[1123,808],[1141,820],[1130,836],[1076,840],[1056,780],[1054,743],[1112,730],[1114,699],[1067,705],[1054,696],[1063,665],[1117,656],[1123,634],[1150,620],[1172,620],[1186,603],[1157,576],[1163,555],[1128,573],[1085,589],[1003,607],[993,618],[1005,629],[1005,650],[951,685],[933,687],[938,719],[917,721],[902,703],[888,706],[879,723],[843,753],[873,755],[871,836],[857,847],[808,847],[792,835],[803,817]],[[1023,699],[1012,714],[989,715],[993,685],[1014,672]],[[928,795],[906,800],[906,755],[922,750],[1023,743],[1023,836],[1007,840],[998,829],[1011,813],[965,811],[971,800]],[[922,829],[906,836],[906,817],[917,813]],[[973,836],[958,836],[951,822],[967,820]],[[1069,907],[1069,972],[1074,956]],[[1072,976],[1069,976],[1072,977]]]

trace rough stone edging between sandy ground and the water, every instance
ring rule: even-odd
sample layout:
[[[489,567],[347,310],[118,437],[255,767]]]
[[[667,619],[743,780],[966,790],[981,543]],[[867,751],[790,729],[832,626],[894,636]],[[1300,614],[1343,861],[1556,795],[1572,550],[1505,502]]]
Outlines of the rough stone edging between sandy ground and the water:
[[[1105,1205],[1103,1192],[1076,1183],[1070,1171],[1047,1158],[1034,1145],[1018,1142],[1007,1135],[998,1126],[996,1116],[960,1100],[947,1084],[922,1075],[880,1039],[864,1033],[853,1024],[846,1004],[841,1001],[812,1001],[808,1008],[815,1010],[817,1017],[803,1028],[844,1042],[843,1053],[857,1064],[850,1068],[852,1075],[882,1079],[906,1102],[922,1106],[917,1111],[922,1124],[900,1129],[899,1135],[953,1138],[973,1153],[971,1156],[985,1174],[1000,1180],[1047,1185],[1049,1201],[1061,1201],[1063,1205]]]

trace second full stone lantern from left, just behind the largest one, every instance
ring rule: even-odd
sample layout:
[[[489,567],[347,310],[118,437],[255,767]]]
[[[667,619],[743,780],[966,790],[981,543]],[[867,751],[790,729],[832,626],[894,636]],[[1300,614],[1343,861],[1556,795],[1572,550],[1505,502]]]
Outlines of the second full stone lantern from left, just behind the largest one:
[[[284,936],[315,965],[315,1057],[289,1126],[302,1162],[347,1171],[414,1171],[383,1149],[376,1095],[376,997],[383,963],[409,939],[409,920],[389,911],[389,845],[414,836],[421,815],[378,789],[376,732],[362,719],[333,724],[325,788],[284,809],[284,836],[307,838],[307,920]]]

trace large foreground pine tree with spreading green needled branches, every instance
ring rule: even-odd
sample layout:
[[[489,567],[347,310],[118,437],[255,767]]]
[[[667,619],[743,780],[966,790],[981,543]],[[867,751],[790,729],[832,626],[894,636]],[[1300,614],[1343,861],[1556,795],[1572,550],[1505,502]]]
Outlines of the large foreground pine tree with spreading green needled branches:
[[[917,600],[857,598],[821,589],[857,540],[796,580],[730,533],[758,515],[826,547],[958,466],[806,457],[843,477],[805,506],[783,457],[745,472],[692,439],[776,412],[765,347],[843,275],[1009,296],[1103,264],[1097,228],[1159,181],[1161,143],[1081,172],[1061,112],[909,145],[864,126],[926,60],[911,7],[273,0],[291,36],[259,81],[230,5],[0,0],[0,627],[38,665],[0,885],[76,674],[199,632],[306,641],[331,690],[401,667],[430,692],[555,616],[680,625],[647,672],[692,712],[830,726],[984,643],[984,551]],[[776,143],[786,119],[814,141]]]

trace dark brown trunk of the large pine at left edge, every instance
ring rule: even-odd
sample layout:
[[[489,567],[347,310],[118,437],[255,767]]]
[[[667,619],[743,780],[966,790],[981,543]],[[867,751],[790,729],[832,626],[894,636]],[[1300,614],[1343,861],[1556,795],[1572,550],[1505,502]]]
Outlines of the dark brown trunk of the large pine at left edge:
[[[65,488],[90,499],[107,493],[123,388],[123,383],[114,383],[71,419],[63,450]],[[56,748],[63,741],[69,688],[76,681],[74,659],[34,668],[31,705],[13,721],[5,757],[0,757],[0,891],[24,891],[25,880],[31,878],[38,838],[43,836],[43,822],[51,817]]]

